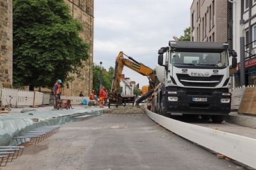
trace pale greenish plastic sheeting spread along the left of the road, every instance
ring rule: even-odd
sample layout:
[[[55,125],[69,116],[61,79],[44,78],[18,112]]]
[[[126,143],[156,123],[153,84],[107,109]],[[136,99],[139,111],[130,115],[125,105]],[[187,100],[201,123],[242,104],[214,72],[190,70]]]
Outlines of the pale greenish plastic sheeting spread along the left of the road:
[[[73,117],[82,115],[102,115],[101,108],[84,108],[81,110],[28,111],[0,115],[0,146],[15,146],[12,138],[27,131],[45,125],[64,125],[73,122]],[[38,118],[38,122],[33,119]]]

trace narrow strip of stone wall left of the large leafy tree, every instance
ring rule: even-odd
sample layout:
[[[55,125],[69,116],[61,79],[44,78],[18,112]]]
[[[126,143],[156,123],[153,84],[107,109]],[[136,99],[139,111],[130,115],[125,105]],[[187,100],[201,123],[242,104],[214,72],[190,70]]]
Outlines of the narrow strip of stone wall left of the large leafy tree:
[[[0,87],[12,82],[12,0],[0,0]]]

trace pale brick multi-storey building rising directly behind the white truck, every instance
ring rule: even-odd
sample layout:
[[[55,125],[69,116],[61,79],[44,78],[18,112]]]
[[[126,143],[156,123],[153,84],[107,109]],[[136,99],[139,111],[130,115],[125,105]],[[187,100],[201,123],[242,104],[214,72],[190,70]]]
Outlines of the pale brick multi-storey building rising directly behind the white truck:
[[[194,0],[191,8],[191,41],[227,42],[227,1]]]

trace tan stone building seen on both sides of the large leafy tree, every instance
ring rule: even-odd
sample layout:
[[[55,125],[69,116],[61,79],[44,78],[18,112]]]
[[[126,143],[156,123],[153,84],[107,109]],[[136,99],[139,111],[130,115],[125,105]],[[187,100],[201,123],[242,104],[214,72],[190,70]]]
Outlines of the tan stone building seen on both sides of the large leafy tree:
[[[80,37],[90,45],[90,59],[81,69],[82,78],[76,78],[69,83],[69,88],[63,88],[63,96],[79,96],[82,91],[84,96],[89,96],[92,90],[92,66],[93,66],[93,0],[64,0],[70,7],[70,14],[83,24],[83,32]],[[7,78],[12,80],[12,0],[0,0],[0,87]],[[52,85],[53,86],[53,85]],[[28,89],[28,88],[26,88]],[[38,89],[35,89],[38,90]],[[50,89],[42,89],[43,92],[51,92]]]

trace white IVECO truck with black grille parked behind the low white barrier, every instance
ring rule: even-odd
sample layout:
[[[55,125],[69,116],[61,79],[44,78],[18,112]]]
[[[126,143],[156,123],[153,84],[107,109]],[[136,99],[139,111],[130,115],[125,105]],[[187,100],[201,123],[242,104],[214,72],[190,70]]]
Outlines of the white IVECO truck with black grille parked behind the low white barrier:
[[[236,67],[237,53],[230,53]],[[222,122],[231,105],[228,43],[169,41],[158,54],[161,84],[152,93],[151,111]]]

